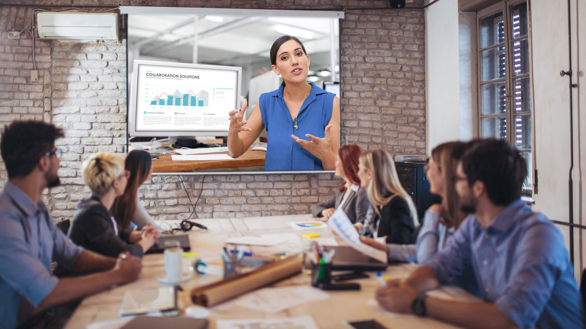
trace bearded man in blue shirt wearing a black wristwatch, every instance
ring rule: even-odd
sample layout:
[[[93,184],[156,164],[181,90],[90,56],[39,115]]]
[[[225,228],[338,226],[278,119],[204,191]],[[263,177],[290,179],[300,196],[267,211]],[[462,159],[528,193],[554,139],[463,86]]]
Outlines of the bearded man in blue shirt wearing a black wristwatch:
[[[485,140],[466,152],[456,176],[462,211],[473,215],[405,282],[393,280],[377,290],[380,306],[468,328],[584,328],[564,238],[520,200],[527,165],[515,147]],[[425,296],[465,264],[472,265],[483,303]]]

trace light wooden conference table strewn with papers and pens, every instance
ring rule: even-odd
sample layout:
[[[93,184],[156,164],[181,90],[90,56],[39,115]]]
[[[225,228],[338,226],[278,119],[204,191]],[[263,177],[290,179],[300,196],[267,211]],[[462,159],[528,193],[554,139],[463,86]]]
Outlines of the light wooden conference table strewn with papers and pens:
[[[197,252],[198,257],[207,263],[209,267],[222,268],[220,250],[224,246],[224,241],[231,237],[241,237],[243,235],[260,235],[260,234],[286,234],[292,233],[299,236],[308,233],[316,233],[323,238],[334,237],[331,229],[308,229],[295,231],[288,222],[312,220],[311,215],[284,215],[284,216],[266,216],[250,218],[214,218],[195,220],[200,224],[206,225],[208,231],[194,228],[189,232],[191,252]],[[164,225],[162,225],[164,227]],[[340,245],[343,245],[341,239],[336,238]],[[279,252],[277,246],[273,247],[251,247],[255,253]],[[275,249],[276,248],[276,249]],[[189,268],[195,261],[195,258],[183,258],[183,265]],[[113,287],[112,289],[86,297],[77,309],[74,311],[66,329],[86,328],[88,324],[93,324],[90,328],[116,328],[115,324],[120,322],[118,308],[120,307],[122,297],[127,290],[153,289],[161,287],[156,280],[157,277],[164,276],[165,262],[162,254],[145,255],[142,261],[142,273],[138,280],[127,285]],[[417,265],[413,263],[404,263],[400,265],[390,265],[384,275],[391,279],[403,279],[410,275]],[[348,282],[360,283],[362,289],[359,291],[329,291],[330,298],[321,301],[312,301],[302,304],[301,306],[288,309],[277,314],[265,314],[261,311],[253,311],[240,306],[230,306],[219,304],[210,308],[209,328],[216,328],[217,319],[238,319],[238,318],[264,318],[264,317],[297,317],[311,316],[319,328],[346,328],[343,321],[363,321],[376,320],[389,329],[410,329],[410,328],[459,328],[451,324],[437,321],[427,317],[416,317],[411,314],[394,314],[384,311],[373,303],[374,292],[379,287],[374,273],[369,273],[370,278],[350,280]],[[194,287],[222,279],[220,275],[211,273],[199,276],[194,275],[192,279],[181,285],[183,292],[178,293],[178,306],[180,316],[183,315],[185,307],[192,305],[190,292]],[[274,283],[272,286],[295,286],[309,285],[309,275],[299,273]],[[458,287],[441,287],[433,292],[435,296],[447,300],[460,301],[478,301],[476,297],[466,293]],[[112,320],[112,321],[109,321]]]

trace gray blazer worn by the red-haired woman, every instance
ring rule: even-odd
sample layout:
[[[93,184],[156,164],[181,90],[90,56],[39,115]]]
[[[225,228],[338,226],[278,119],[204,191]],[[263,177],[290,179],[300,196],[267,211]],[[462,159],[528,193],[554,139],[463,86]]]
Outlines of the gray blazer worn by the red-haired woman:
[[[348,187],[346,187],[348,189]],[[322,217],[322,210],[328,208],[338,208],[346,193],[346,189],[338,191],[335,196],[329,198],[329,200],[314,205],[312,215],[314,217]],[[346,198],[346,203],[343,205],[343,210],[350,218],[352,223],[363,222],[366,217],[366,212],[370,207],[370,201],[368,199],[366,189],[359,187],[358,191],[350,190],[349,196]]]

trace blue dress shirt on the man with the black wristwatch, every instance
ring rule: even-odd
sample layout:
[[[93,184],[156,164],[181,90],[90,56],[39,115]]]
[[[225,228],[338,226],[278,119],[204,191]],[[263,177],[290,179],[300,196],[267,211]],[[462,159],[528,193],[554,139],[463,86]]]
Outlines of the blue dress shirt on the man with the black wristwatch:
[[[442,283],[471,263],[485,301],[520,328],[584,328],[581,296],[564,237],[521,200],[488,228],[469,216],[427,263]]]

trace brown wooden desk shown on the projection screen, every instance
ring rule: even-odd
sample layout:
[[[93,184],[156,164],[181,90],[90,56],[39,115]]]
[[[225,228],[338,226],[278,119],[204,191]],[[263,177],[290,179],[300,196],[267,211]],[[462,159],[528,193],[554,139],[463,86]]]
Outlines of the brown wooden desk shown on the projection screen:
[[[201,160],[201,161],[178,161],[171,160],[170,155],[159,156],[153,160],[152,171],[155,173],[190,172],[192,170],[239,168],[264,166],[264,156],[267,152],[250,148],[243,155],[235,157],[234,160]],[[228,152],[210,153],[228,154]]]

